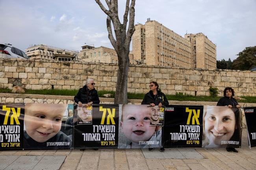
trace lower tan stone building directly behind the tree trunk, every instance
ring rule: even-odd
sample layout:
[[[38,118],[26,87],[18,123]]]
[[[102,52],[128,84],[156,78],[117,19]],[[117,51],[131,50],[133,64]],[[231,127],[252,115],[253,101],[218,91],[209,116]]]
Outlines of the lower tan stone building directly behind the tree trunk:
[[[101,63],[118,63],[117,53],[115,49],[107,47],[93,47],[93,46],[82,46],[80,51],[81,60],[86,62],[101,62]],[[129,54],[130,64],[137,64],[134,60],[133,55]]]

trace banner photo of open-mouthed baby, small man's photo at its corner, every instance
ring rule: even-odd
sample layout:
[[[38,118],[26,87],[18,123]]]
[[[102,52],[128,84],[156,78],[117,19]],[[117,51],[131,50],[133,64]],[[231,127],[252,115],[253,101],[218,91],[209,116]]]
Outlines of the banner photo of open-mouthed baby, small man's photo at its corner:
[[[120,105],[118,148],[156,148],[161,146],[163,115],[150,105]],[[158,115],[159,113],[159,115]],[[161,121],[161,122],[160,122]]]

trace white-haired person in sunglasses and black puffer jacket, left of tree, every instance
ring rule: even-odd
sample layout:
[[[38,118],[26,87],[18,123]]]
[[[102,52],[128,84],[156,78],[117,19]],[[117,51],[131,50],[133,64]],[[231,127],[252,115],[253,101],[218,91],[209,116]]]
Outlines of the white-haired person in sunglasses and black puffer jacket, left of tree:
[[[82,107],[82,104],[87,104],[87,106],[91,106],[91,104],[99,104],[100,99],[98,97],[97,90],[94,88],[93,79],[87,79],[85,81],[85,86],[79,89],[78,93],[74,97],[74,101],[78,103],[78,107]]]

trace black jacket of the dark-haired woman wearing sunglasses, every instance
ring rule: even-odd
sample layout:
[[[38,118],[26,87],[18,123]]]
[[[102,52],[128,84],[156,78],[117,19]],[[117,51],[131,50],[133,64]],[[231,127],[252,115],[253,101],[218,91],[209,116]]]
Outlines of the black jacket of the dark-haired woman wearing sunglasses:
[[[145,94],[143,101],[141,104],[150,104],[154,103],[155,105],[158,105],[161,102],[162,105],[168,105],[169,102],[165,97],[165,94],[161,92],[161,90],[157,91],[157,94],[153,98],[153,92],[150,90],[147,94]]]

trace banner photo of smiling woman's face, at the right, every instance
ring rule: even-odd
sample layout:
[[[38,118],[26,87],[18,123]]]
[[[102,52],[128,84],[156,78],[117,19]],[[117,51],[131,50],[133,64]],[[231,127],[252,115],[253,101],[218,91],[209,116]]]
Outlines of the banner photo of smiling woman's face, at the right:
[[[204,106],[202,147],[240,148],[242,136],[241,108]]]

